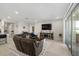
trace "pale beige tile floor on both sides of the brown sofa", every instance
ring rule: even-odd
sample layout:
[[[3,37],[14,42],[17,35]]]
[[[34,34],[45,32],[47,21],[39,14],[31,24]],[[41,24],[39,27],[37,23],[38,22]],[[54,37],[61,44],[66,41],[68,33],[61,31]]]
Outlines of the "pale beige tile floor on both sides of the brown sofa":
[[[8,43],[0,45],[0,56],[28,56],[19,52],[11,38],[8,38]],[[55,40],[44,39],[43,50],[39,56],[71,56],[67,46],[62,42]]]

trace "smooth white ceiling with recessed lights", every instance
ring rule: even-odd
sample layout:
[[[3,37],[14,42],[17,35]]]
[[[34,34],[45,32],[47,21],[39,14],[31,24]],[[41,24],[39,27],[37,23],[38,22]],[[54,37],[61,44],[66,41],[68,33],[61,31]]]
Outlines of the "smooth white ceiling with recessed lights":
[[[0,3],[0,18],[33,22],[63,18],[69,3]]]

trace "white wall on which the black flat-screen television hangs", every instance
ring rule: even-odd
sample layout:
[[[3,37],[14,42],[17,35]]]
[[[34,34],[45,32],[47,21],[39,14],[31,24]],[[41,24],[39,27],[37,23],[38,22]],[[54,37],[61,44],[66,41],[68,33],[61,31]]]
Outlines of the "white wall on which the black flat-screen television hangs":
[[[54,20],[54,21],[50,21],[50,22],[35,23],[35,24],[30,25],[30,30],[32,30],[32,26],[35,26],[35,34],[37,34],[39,36],[40,32],[42,31],[41,25],[45,24],[45,23],[52,24],[51,32],[54,33],[54,40],[63,40],[63,38],[59,37],[60,33],[63,34],[63,20],[56,20],[56,21]]]

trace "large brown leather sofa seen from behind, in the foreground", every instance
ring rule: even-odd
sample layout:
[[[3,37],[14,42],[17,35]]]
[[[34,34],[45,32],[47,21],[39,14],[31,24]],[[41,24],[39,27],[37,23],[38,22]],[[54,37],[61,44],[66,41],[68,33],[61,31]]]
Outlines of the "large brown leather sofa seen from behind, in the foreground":
[[[22,35],[15,35],[13,38],[17,50],[30,56],[39,55],[43,48],[43,39],[25,38]]]

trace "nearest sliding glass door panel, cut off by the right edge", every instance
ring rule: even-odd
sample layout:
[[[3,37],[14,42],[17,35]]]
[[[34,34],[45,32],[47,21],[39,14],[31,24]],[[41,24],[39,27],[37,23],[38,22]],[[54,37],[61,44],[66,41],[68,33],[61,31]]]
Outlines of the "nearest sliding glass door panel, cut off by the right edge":
[[[72,55],[79,55],[79,6],[72,12]]]

